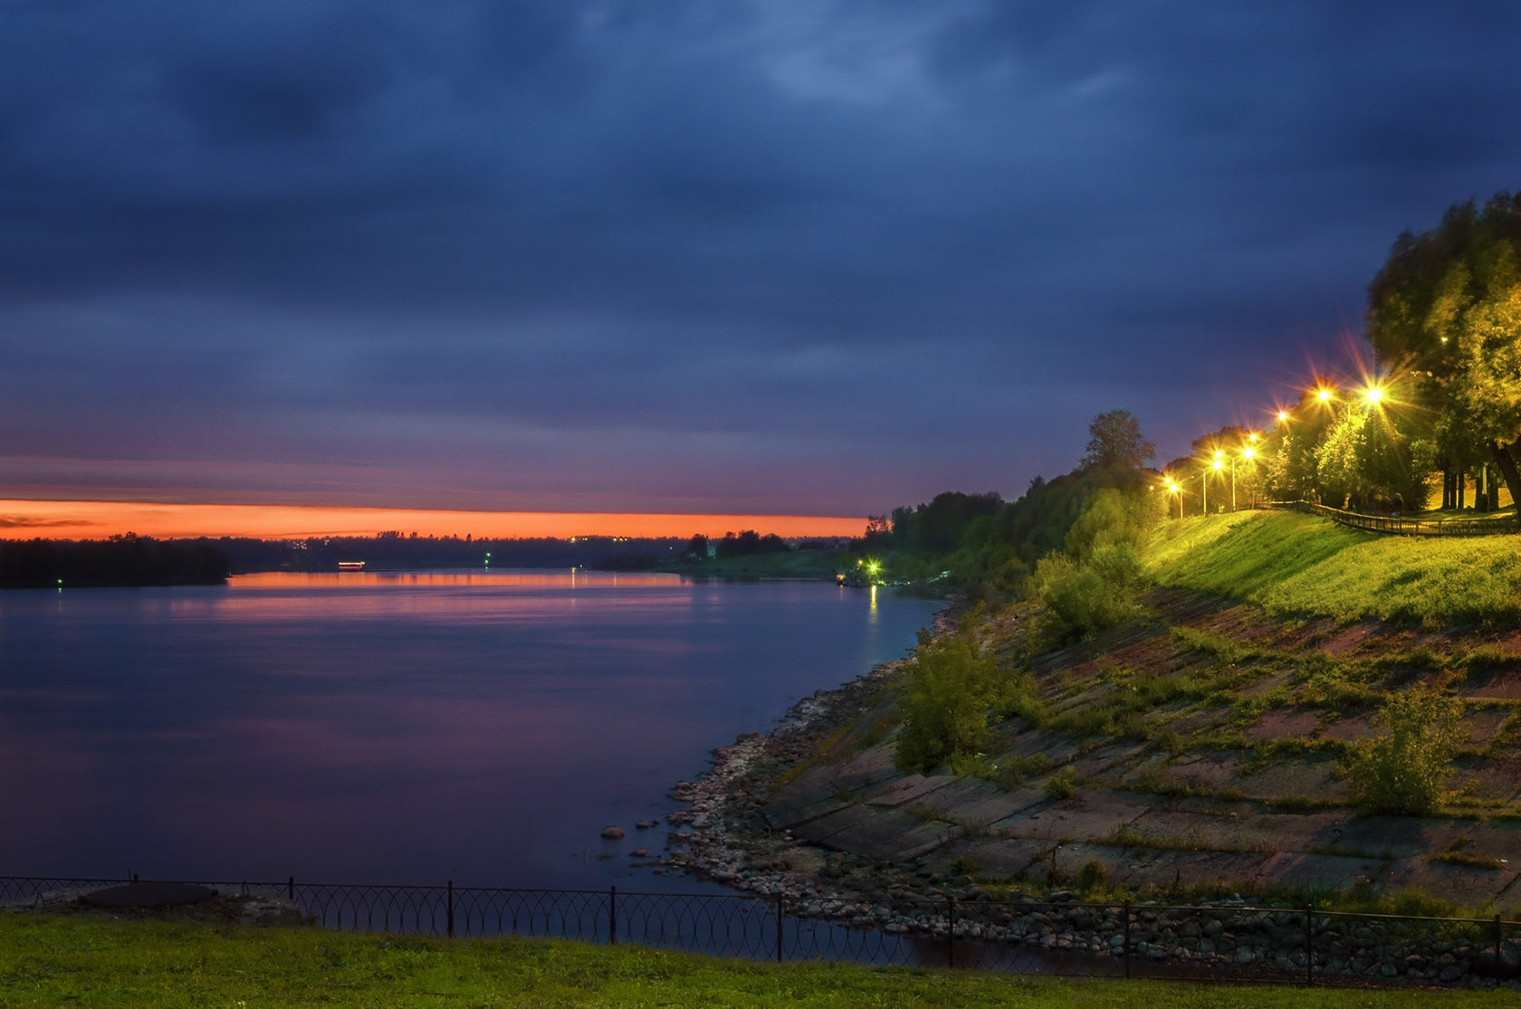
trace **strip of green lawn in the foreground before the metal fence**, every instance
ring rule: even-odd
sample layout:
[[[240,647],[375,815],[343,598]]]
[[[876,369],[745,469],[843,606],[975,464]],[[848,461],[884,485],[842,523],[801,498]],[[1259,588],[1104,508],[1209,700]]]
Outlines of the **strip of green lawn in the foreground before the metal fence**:
[[[0,915],[0,1006],[1421,1006],[1421,991],[1098,982],[750,963],[537,939]],[[1446,1006],[1495,994],[1442,992]]]

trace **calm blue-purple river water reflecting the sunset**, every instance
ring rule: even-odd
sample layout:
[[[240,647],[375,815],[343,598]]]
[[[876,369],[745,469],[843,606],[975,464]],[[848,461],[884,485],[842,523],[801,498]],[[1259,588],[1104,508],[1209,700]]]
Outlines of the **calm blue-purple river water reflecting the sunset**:
[[[630,866],[663,848],[634,821],[935,608],[580,571],[3,593],[0,875],[692,890]]]

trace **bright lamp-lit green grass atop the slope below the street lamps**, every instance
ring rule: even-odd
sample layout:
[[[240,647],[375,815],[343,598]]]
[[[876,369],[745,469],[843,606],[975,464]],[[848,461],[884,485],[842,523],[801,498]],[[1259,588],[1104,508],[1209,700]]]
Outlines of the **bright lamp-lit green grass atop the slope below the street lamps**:
[[[1521,617],[1521,536],[1389,536],[1299,512],[1200,515],[1159,526],[1147,568],[1161,585],[1279,615],[1448,626]]]

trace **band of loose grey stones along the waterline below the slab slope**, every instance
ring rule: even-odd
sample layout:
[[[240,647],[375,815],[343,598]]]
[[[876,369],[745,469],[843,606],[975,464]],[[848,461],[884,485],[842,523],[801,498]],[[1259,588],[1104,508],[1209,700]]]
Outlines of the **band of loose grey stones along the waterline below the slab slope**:
[[[1129,956],[1142,971],[1335,976],[1459,986],[1516,986],[1521,935],[1498,922],[1427,922],[1247,907],[1221,901],[1091,906],[1062,889],[989,892],[970,877],[829,851],[771,827],[779,784],[817,760],[830,739],[879,702],[897,664],[805,697],[765,735],[713,751],[713,766],[680,783],[689,804],[668,818],[668,866],[773,898],[789,915],[891,936],[970,941],[1037,956]],[[774,810],[773,810],[774,813]],[[1509,928],[1509,927],[1507,927]],[[1313,957],[1313,971],[1307,966]],[[1021,962],[1021,954],[995,957]]]

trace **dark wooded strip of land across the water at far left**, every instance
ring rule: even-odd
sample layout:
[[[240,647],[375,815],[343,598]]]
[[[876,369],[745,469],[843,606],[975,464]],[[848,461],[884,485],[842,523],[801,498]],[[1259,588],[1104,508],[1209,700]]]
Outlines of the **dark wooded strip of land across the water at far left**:
[[[210,539],[0,541],[0,587],[221,585],[231,570]]]

